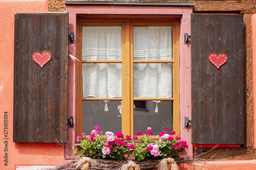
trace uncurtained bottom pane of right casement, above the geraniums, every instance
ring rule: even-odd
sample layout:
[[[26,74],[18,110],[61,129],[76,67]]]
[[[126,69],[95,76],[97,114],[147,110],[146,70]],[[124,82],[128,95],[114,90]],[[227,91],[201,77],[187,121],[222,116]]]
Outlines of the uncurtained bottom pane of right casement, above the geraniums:
[[[165,128],[173,130],[173,101],[140,101],[145,102],[145,109],[134,109],[134,135],[138,131],[145,133],[152,128],[153,135],[159,135]],[[156,113],[156,106],[158,112]]]

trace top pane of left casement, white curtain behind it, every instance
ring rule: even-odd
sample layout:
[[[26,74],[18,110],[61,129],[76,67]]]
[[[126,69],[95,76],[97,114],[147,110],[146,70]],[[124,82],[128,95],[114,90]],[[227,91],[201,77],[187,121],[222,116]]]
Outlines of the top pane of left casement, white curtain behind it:
[[[82,27],[82,60],[121,60],[121,26]]]

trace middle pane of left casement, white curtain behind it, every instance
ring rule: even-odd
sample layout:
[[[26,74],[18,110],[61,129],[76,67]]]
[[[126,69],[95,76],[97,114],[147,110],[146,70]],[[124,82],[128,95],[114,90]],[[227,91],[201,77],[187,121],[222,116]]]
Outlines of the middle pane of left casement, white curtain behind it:
[[[83,98],[121,98],[121,63],[83,63]]]

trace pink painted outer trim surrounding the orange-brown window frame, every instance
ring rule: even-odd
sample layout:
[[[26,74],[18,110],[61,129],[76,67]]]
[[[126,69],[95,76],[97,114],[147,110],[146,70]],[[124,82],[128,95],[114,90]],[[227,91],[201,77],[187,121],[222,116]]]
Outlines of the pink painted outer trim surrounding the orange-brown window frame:
[[[192,156],[193,145],[191,144],[191,127],[184,129],[184,117],[191,118],[191,54],[190,43],[184,44],[184,33],[190,35],[190,14],[193,13],[191,6],[134,6],[134,5],[66,5],[69,13],[69,34],[75,33],[76,45],[76,20],[78,14],[88,15],[157,15],[180,16],[180,135],[187,141],[189,149],[182,150],[180,155]],[[125,17],[125,16],[124,16]],[[68,88],[68,117],[74,117],[74,128],[68,129],[68,143],[65,143],[65,159],[74,159],[76,138],[76,61],[69,58],[69,88]]]

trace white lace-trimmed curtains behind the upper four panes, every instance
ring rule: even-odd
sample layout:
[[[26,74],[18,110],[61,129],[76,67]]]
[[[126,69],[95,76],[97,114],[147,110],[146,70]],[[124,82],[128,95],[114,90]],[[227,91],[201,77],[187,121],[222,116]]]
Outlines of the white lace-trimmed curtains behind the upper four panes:
[[[83,60],[121,60],[121,27],[83,27]],[[172,27],[134,27],[134,60],[172,60]],[[121,63],[82,64],[83,97],[121,97]],[[134,64],[135,98],[172,98],[170,63]]]

